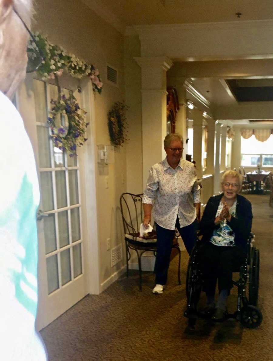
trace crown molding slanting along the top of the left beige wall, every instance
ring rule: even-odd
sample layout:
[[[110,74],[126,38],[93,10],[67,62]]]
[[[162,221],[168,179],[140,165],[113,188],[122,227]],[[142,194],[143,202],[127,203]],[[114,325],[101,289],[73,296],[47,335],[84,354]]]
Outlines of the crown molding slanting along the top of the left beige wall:
[[[91,10],[97,13],[103,20],[113,26],[118,32],[124,34],[126,25],[123,24],[120,18],[110,12],[99,0],[81,0],[82,3],[88,6]]]

